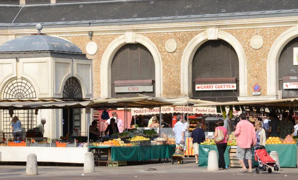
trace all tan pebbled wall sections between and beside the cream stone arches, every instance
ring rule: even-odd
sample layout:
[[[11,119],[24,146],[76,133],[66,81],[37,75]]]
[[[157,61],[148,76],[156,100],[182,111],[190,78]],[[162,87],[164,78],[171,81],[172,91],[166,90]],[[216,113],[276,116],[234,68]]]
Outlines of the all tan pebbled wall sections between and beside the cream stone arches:
[[[290,29],[287,27],[269,27],[269,28],[248,28],[248,29],[229,29],[225,32],[234,36],[242,45],[247,62],[247,96],[252,96],[252,88],[255,83],[260,84],[261,93],[267,95],[267,57],[272,44],[284,31]],[[162,60],[162,85],[163,97],[180,97],[181,95],[181,59],[185,47],[189,41],[202,31],[185,31],[169,33],[142,33],[141,35],[149,38],[157,47]],[[264,44],[259,50],[250,46],[250,39],[254,35],[262,36]],[[77,45],[83,53],[87,54],[89,59],[93,60],[93,97],[100,97],[100,63],[101,58],[107,46],[121,35],[94,35],[94,41],[98,50],[94,56],[86,53],[85,47],[91,42],[88,36],[67,36],[64,37]],[[165,50],[164,45],[168,39],[175,39],[177,49],[173,53]]]

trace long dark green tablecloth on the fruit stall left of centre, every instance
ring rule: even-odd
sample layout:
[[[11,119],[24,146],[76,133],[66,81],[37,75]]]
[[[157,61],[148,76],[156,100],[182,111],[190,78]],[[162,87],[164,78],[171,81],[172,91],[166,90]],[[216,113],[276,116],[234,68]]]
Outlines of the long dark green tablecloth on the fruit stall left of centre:
[[[175,145],[152,145],[133,147],[112,147],[112,161],[145,161],[150,159],[171,158]]]

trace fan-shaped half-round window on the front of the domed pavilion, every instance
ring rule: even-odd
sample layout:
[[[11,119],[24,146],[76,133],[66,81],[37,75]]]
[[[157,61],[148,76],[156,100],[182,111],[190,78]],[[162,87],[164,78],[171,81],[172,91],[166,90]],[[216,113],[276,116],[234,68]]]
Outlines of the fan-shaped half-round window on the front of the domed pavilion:
[[[13,79],[3,92],[3,99],[35,99],[36,93],[33,85],[26,79]]]

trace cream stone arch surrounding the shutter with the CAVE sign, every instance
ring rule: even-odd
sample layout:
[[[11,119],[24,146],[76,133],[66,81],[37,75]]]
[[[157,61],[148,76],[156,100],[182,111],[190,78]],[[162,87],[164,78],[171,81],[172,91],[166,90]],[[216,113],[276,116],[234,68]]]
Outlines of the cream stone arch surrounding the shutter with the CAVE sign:
[[[101,98],[111,97],[111,65],[116,52],[127,43],[140,43],[151,53],[155,63],[155,96],[162,97],[162,61],[156,46],[145,36],[134,34],[130,37],[126,33],[116,38],[106,48],[100,64],[100,96]],[[129,37],[128,37],[129,36]]]

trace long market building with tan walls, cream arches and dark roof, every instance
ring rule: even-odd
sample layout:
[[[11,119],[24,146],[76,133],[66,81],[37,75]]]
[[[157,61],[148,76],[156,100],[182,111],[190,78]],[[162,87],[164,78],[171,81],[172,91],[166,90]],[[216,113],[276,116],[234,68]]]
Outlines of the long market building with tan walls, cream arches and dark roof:
[[[204,0],[64,2],[0,5],[8,14],[0,18],[0,45],[34,33],[42,23],[43,33],[70,41],[92,60],[93,98],[297,97],[295,0],[270,7],[247,1],[213,7]]]

